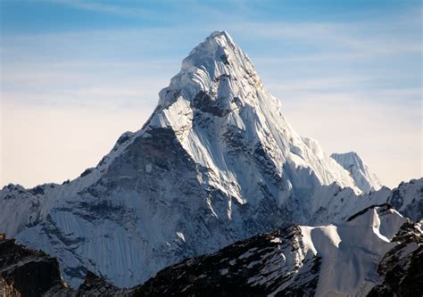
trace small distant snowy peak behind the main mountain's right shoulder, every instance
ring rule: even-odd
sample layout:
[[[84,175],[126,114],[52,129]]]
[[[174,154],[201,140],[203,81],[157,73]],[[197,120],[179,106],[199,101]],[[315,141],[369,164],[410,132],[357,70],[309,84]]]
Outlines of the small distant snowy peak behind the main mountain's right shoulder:
[[[377,191],[382,187],[379,178],[370,171],[369,166],[361,160],[357,153],[332,153],[330,157],[350,172],[355,184],[360,187],[361,191],[364,193]]]

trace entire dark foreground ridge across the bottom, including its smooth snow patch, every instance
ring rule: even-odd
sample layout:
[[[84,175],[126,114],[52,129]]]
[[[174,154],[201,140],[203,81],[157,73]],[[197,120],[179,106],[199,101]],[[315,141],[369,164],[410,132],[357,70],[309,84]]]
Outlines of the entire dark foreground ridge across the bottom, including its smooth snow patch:
[[[253,236],[164,268],[128,289],[87,271],[84,283],[72,290],[62,282],[57,261],[10,240],[0,241],[0,264],[1,271],[11,272],[4,278],[7,288],[23,296],[421,296],[422,235],[418,224],[390,204],[372,206],[340,224],[293,225]],[[29,261],[34,265],[21,264]],[[46,261],[54,263],[51,270],[43,268]],[[22,268],[37,279],[37,267],[44,277],[54,276],[46,288],[42,281],[22,282]],[[0,290],[3,285],[0,278]]]

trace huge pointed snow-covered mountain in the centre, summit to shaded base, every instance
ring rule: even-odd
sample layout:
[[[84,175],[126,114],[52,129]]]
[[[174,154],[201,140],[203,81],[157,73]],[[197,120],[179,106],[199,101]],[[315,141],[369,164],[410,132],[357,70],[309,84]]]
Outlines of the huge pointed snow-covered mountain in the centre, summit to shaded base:
[[[137,285],[294,222],[341,222],[391,194],[362,194],[315,140],[299,136],[226,32],[197,45],[159,97],[143,128],[80,177],[0,191],[2,231],[57,257],[72,286],[87,270]]]

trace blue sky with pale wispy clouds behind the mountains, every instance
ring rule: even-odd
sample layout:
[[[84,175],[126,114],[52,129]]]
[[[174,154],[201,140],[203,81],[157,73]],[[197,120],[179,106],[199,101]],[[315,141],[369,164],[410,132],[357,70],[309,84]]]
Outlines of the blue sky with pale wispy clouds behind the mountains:
[[[300,134],[328,153],[357,151],[387,186],[422,176],[419,1],[0,5],[2,185],[61,182],[94,166],[143,125],[190,50],[222,29]]]

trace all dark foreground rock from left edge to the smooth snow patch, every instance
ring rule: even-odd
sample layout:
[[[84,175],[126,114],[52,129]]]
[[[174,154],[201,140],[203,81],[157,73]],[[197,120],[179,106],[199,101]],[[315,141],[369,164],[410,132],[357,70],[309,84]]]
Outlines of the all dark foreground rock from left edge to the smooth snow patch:
[[[60,275],[57,260],[14,240],[0,243],[0,290],[9,296],[311,296],[319,281],[319,257],[286,265],[280,252],[302,253],[298,226],[229,245],[220,252],[165,268],[145,285],[120,289],[87,271],[77,291]],[[279,289],[284,286],[283,290]]]

